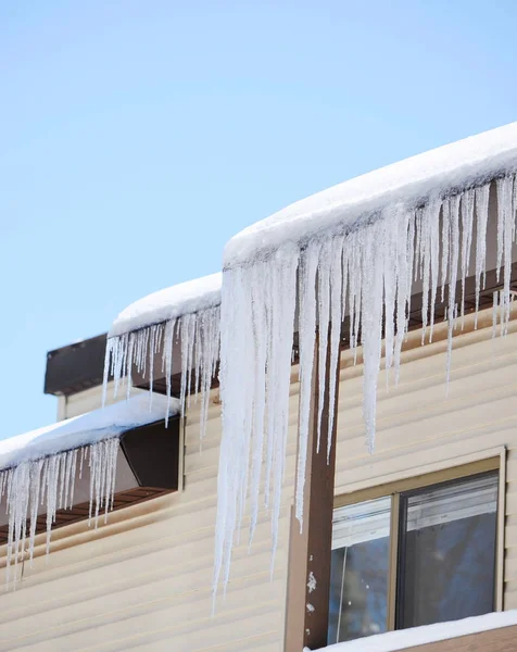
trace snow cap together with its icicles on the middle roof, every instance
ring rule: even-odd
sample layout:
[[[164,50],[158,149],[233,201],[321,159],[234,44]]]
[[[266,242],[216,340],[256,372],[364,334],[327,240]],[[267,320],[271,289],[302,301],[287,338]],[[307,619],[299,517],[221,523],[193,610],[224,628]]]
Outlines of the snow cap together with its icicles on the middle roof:
[[[154,358],[160,352],[169,400],[173,353],[179,346],[181,412],[190,392],[201,392],[200,427],[204,436],[210,388],[219,355],[220,283],[220,273],[182,283],[131,303],[117,316],[108,334],[103,402],[110,375],[114,377],[115,396],[123,380],[129,397],[134,367],[143,378],[149,376],[152,401]]]

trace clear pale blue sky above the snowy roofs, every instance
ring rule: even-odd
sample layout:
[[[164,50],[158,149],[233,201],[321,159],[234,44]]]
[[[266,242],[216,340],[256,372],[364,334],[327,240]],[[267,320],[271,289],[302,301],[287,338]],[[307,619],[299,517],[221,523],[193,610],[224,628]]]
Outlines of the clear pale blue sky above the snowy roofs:
[[[330,185],[517,118],[515,0],[0,4],[0,438],[46,352]]]

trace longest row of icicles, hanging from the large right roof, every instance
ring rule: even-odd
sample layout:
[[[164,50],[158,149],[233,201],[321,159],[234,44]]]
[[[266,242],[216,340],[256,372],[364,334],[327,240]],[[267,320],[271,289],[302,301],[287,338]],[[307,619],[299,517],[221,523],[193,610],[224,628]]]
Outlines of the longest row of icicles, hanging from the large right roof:
[[[476,313],[484,287],[487,226],[496,211],[496,268],[502,289],[494,315],[506,333],[510,316],[512,248],[516,238],[517,181],[514,174],[482,183],[424,205],[391,206],[346,233],[320,235],[304,246],[286,242],[266,261],[225,269],[220,324],[223,441],[217,480],[218,507],[214,592],[226,587],[231,550],[250,502],[250,541],[264,503],[272,512],[273,559],[278,540],[281,488],[288,440],[293,334],[299,333],[300,406],[295,514],[303,524],[303,492],[310,431],[311,386],[318,348],[319,424],[330,355],[329,404],[336,397],[342,323],[346,339],[362,347],[363,411],[368,449],[376,431],[377,379],[382,339],[387,375],[399,380],[401,351],[408,331],[414,280],[423,285],[423,342],[432,341],[436,304],[449,315],[446,380],[454,328],[463,326],[465,284],[476,278]],[[456,288],[459,281],[459,300]],[[298,319],[298,324],[297,324]],[[319,334],[316,340],[316,333]],[[332,432],[333,412],[328,432]],[[325,442],[330,453],[330,438]]]

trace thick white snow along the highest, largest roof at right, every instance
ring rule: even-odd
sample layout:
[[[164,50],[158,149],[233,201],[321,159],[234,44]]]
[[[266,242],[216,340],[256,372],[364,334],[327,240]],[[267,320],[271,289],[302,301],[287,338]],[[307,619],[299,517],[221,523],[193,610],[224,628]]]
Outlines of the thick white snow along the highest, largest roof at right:
[[[414,208],[517,170],[517,122],[405,159],[302,199],[229,240],[225,267],[266,256],[282,242],[349,229],[389,205]]]

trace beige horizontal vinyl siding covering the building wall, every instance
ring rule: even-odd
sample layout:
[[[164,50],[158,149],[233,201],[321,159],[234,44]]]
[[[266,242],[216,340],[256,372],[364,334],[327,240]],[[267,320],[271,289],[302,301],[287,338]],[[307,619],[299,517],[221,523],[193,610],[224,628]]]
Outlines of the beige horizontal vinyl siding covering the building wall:
[[[489,312],[482,323],[490,319]],[[336,476],[336,492],[343,493],[461,464],[506,446],[505,609],[517,607],[516,326],[514,322],[504,339],[492,340],[489,326],[455,338],[449,398],[445,343],[420,348],[419,341],[413,342],[419,335],[411,335],[399,387],[387,391],[383,374],[379,380],[373,455],[364,442],[362,368],[350,366],[350,355],[343,353]],[[413,349],[413,343],[418,346]],[[112,514],[97,532],[85,523],[58,530],[48,560],[39,538],[34,567],[25,562],[16,591],[0,594],[0,652],[280,652],[297,452],[295,377],[293,369],[273,582],[270,519],[263,511],[250,552],[244,519],[227,597],[218,598],[212,617],[220,440],[220,406],[214,390],[201,452],[197,408],[188,414],[182,491]],[[100,389],[97,394],[88,391],[83,405],[98,406]]]

